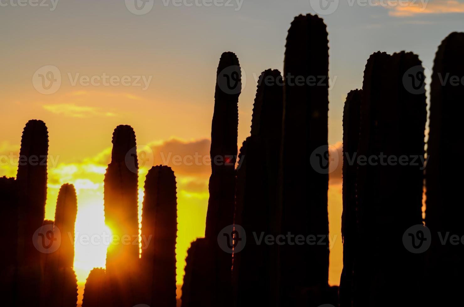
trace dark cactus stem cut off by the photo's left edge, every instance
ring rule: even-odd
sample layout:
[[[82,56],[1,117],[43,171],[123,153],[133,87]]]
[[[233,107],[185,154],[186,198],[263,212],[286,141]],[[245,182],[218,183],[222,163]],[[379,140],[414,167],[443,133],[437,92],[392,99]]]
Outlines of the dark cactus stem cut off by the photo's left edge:
[[[14,306],[14,268],[18,241],[18,195],[14,178],[0,177],[0,294],[5,306]]]

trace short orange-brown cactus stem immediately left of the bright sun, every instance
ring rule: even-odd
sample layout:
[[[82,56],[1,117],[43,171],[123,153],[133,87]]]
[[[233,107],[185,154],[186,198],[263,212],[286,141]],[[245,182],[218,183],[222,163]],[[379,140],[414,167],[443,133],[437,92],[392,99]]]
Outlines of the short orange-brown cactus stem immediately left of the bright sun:
[[[59,268],[71,267],[74,263],[74,224],[77,216],[76,189],[72,184],[64,184],[58,193],[55,211],[55,226],[61,232],[61,245],[56,251]]]

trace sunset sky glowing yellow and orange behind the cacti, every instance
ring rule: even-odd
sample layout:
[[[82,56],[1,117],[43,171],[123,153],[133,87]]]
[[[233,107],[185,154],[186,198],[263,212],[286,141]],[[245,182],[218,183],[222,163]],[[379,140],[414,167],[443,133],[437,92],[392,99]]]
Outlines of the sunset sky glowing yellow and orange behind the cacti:
[[[153,4],[146,1],[145,10]],[[300,13],[321,13],[318,0],[227,1],[208,6],[207,0],[155,0],[145,12],[136,11],[133,0],[0,0],[0,156],[9,157],[1,161],[0,175],[16,175],[14,155],[27,120],[44,120],[50,142],[45,218],[54,218],[61,184],[73,183],[76,233],[101,233],[112,132],[116,125],[131,125],[149,162],[172,166],[177,177],[178,283],[190,242],[204,235],[210,166],[174,163],[168,153],[208,155],[215,75],[224,51],[237,54],[246,75],[238,104],[241,144],[250,134],[258,76],[283,69],[290,22]],[[413,51],[432,70],[440,42],[452,31],[464,31],[463,1],[424,1],[334,0],[322,11],[329,32],[334,148],[341,147],[344,100],[361,88],[370,54]],[[51,88],[45,85],[52,80],[48,71],[57,80]],[[139,174],[140,203],[150,163]],[[331,236],[338,239],[330,256],[330,284],[338,284],[342,269],[341,214],[341,175],[335,172],[329,221]],[[90,269],[104,266],[105,249],[76,244],[80,283]]]

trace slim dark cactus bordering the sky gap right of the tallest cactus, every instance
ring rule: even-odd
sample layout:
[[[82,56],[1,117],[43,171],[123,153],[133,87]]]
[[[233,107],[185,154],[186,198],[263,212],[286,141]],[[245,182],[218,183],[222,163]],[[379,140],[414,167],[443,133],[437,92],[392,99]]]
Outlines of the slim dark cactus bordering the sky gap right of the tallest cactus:
[[[343,270],[340,279],[340,306],[351,307],[353,301],[354,257],[358,248],[356,219],[356,169],[348,157],[358,151],[362,90],[348,93],[343,107]],[[347,156],[348,155],[348,156]]]

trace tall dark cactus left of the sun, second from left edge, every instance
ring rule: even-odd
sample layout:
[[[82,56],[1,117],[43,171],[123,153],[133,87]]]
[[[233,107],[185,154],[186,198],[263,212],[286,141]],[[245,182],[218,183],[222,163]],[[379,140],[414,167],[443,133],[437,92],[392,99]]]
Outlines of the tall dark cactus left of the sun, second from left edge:
[[[45,216],[47,156],[48,132],[45,123],[41,120],[28,121],[21,138],[16,176],[19,212],[16,306],[39,306],[41,257],[32,241]]]

